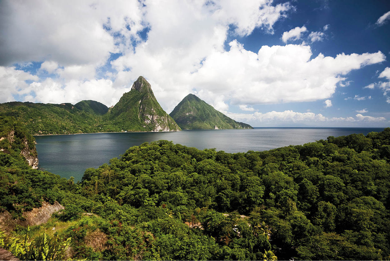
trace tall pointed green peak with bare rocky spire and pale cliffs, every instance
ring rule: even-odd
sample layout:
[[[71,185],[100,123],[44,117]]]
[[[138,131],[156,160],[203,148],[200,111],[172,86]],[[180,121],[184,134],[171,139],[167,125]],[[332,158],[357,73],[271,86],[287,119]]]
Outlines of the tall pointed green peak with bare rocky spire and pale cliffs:
[[[127,131],[179,131],[175,121],[161,108],[154,97],[151,85],[144,77],[138,77],[131,91],[104,115],[107,126]]]

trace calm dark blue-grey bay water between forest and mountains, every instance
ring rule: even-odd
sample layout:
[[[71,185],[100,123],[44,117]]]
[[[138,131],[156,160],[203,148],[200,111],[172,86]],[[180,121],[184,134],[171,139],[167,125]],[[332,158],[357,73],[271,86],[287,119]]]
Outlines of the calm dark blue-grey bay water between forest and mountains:
[[[91,133],[35,136],[39,167],[64,178],[80,180],[85,169],[99,167],[126,149],[154,140],[172,140],[198,149],[229,153],[264,151],[351,133],[383,128],[255,128],[254,130],[185,130],[179,132]]]

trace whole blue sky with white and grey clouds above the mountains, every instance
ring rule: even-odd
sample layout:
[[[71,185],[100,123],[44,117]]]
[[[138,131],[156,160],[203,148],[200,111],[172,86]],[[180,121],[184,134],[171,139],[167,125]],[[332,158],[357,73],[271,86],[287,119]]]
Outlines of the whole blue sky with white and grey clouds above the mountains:
[[[115,105],[144,76],[254,127],[390,126],[388,0],[0,0],[0,103]]]

